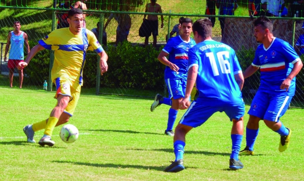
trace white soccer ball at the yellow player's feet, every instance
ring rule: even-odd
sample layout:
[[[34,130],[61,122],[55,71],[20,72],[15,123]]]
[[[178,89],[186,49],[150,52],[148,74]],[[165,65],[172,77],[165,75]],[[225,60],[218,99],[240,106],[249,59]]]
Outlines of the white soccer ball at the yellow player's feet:
[[[60,130],[60,138],[65,143],[73,143],[78,139],[78,129],[72,124],[64,125]]]

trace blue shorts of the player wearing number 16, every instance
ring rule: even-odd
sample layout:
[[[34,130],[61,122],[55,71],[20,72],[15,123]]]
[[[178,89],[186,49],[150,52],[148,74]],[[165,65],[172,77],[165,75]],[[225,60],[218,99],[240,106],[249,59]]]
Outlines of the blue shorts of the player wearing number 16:
[[[214,113],[225,112],[232,119],[239,120],[245,114],[245,104],[239,106],[209,106],[208,103],[193,101],[179,123],[191,127],[198,127],[206,122]]]

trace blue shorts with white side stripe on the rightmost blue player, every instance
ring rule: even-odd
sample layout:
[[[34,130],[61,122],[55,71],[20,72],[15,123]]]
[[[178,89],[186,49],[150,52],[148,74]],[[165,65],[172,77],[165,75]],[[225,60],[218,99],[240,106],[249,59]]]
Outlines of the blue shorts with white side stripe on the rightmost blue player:
[[[248,114],[263,120],[279,122],[280,117],[287,111],[291,99],[290,96],[258,91],[252,100]]]

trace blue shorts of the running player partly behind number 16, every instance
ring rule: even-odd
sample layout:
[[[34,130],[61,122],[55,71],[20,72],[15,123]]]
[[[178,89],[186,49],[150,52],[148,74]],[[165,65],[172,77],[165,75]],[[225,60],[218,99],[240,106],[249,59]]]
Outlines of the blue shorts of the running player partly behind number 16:
[[[185,97],[187,77],[180,77],[177,79],[167,78],[165,81],[168,87],[169,99],[179,99]]]

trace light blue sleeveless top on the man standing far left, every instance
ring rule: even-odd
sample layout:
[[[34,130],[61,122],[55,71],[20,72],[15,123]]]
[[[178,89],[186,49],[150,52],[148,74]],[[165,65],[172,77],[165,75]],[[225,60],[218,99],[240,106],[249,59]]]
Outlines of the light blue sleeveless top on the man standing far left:
[[[9,59],[12,60],[24,60],[23,46],[24,46],[24,32],[21,31],[20,35],[15,35],[14,31],[11,31],[11,50]]]

